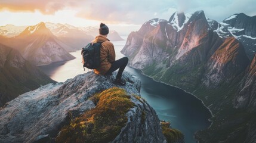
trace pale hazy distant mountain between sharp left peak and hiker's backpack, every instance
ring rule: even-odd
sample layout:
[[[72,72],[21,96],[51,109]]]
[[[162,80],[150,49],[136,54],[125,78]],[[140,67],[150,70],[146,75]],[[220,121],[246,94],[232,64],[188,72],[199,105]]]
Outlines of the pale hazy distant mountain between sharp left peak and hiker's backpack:
[[[48,22],[46,23],[46,26],[51,30],[53,35],[57,36],[57,38],[64,43],[64,45],[61,43],[60,45],[63,45],[63,47],[69,52],[82,49],[82,47],[94,39],[94,37],[88,35],[87,32],[79,30],[75,26],[70,26],[68,24],[54,24]]]

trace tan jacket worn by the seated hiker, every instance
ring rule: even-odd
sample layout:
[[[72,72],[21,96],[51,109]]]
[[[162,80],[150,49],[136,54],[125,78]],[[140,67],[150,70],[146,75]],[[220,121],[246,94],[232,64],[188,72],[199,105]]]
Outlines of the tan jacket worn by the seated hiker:
[[[98,69],[94,69],[96,74],[106,74],[111,67],[111,63],[116,60],[116,53],[114,49],[114,45],[112,42],[109,42],[109,39],[106,36],[98,35],[92,41],[92,43],[103,42],[101,43],[100,48],[100,67]]]

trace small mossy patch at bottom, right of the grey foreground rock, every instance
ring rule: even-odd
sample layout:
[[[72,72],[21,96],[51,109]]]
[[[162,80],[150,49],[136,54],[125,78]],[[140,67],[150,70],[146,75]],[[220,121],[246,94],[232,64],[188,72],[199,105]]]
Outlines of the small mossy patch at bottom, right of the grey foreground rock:
[[[177,129],[171,129],[169,122],[160,122],[162,127],[162,132],[168,143],[182,141],[184,139],[183,133]]]

